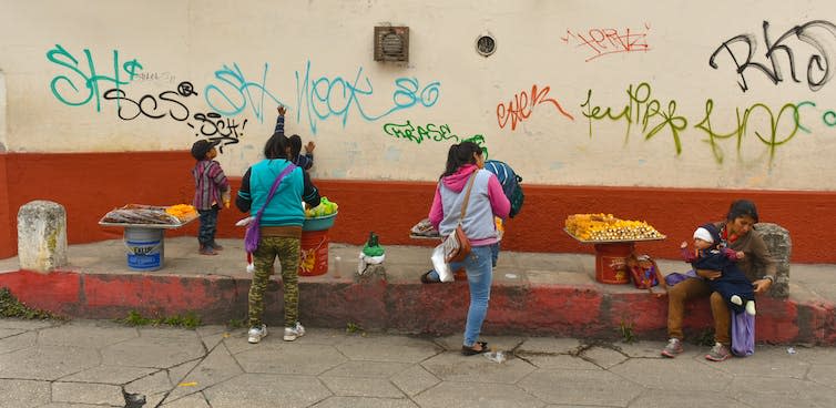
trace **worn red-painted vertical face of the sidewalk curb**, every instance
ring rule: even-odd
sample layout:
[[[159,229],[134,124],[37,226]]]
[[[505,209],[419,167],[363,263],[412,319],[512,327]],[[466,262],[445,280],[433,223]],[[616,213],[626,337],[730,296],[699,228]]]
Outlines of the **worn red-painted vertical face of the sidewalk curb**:
[[[268,325],[282,324],[281,284],[266,295]],[[100,274],[30,271],[0,274],[0,286],[30,307],[72,318],[123,318],[197,314],[203,323],[226,324],[246,316],[249,279],[230,276]],[[300,319],[312,327],[449,335],[460,332],[468,308],[466,282],[422,285],[349,278],[299,283]],[[707,303],[689,307],[690,334],[711,327]],[[664,338],[666,298],[643,292],[602,292],[595,285],[510,285],[495,283],[483,332],[613,339],[628,328],[638,339]],[[832,302],[758,299],[758,343],[836,344]]]

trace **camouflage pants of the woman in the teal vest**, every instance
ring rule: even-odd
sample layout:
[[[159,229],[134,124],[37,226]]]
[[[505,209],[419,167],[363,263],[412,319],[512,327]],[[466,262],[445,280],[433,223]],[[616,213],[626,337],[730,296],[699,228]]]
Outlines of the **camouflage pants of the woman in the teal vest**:
[[[273,265],[278,256],[282,266],[282,287],[285,298],[285,327],[299,319],[299,238],[263,236],[253,254],[253,283],[249,286],[249,327],[262,325],[264,293],[267,290]]]

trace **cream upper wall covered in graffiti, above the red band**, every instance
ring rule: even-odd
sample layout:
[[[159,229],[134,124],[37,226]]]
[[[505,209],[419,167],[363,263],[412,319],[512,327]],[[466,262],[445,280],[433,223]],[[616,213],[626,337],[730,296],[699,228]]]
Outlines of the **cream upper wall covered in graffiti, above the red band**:
[[[490,156],[510,162],[529,183],[836,190],[833,2],[2,0],[0,8],[7,145],[14,152],[184,150],[212,131],[202,133],[195,115],[221,112],[224,123],[238,125],[225,139],[237,143],[224,146],[221,162],[239,175],[259,159],[281,102],[289,109],[288,133],[317,143],[316,177],[435,180],[452,141],[417,143],[385,131],[409,121],[447,125],[459,137],[483,135]],[[772,59],[765,21],[773,43],[788,32],[781,42],[786,48]],[[373,30],[381,24],[409,27],[408,64],[373,60]],[[475,51],[483,32],[498,43],[489,58]],[[611,40],[600,38],[594,47],[622,52],[598,55],[582,43],[601,32]],[[750,65],[743,71],[747,90],[741,89],[731,52],[743,64],[746,44],[723,48],[740,34],[752,35],[752,62],[766,71],[774,63],[781,81]],[[65,53],[51,61],[58,45]],[[715,50],[716,69],[708,64]],[[119,118],[116,101],[104,98],[115,88],[116,59],[126,82],[120,90],[137,102],[150,95],[145,111],[161,118]],[[130,80],[123,64],[134,59],[142,69]],[[818,88],[807,80],[812,62]],[[98,95],[85,86],[91,64],[106,78],[90,82]],[[248,94],[236,89],[241,76]],[[161,96],[183,81],[197,94]],[[398,81],[428,89],[426,101],[398,99]],[[313,83],[325,101],[315,98]],[[498,105],[522,92],[530,100],[532,85],[548,86],[548,94],[516,128],[510,119],[501,128]],[[345,96],[347,86],[358,91]],[[595,106],[599,115],[606,108],[622,112],[631,86],[638,99],[650,98],[633,101],[630,120],[587,118]],[[582,106],[590,92],[591,103]],[[714,132],[732,134],[713,145],[696,128],[706,100]],[[673,132],[662,114],[643,121],[649,105],[666,114],[672,104],[681,130]],[[120,105],[123,116],[137,114],[135,104]]]

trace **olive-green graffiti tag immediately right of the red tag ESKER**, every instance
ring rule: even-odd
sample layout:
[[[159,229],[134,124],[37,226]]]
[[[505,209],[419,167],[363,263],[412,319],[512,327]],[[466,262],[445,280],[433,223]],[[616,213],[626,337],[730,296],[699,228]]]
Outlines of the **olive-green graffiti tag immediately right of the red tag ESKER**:
[[[676,114],[676,101],[667,102],[664,109],[662,102],[652,99],[653,90],[650,84],[642,82],[635,88],[631,84],[626,89],[628,103],[619,113],[613,113],[610,106],[602,108],[592,104],[592,90],[587,92],[587,101],[581,104],[584,108],[583,115],[589,120],[589,135],[592,137],[592,121],[610,119],[612,121],[626,121],[626,132],[624,143],[630,137],[630,131],[633,123],[640,124],[644,140],[650,140],[659,132],[670,130],[671,137],[676,150],[676,155],[682,153],[682,142],[680,132],[687,126],[687,120]]]

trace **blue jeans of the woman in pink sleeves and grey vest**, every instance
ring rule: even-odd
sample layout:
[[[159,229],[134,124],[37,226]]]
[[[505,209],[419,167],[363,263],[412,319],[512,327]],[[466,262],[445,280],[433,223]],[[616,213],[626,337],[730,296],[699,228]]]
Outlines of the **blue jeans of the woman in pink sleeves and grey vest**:
[[[465,343],[467,347],[472,347],[479,339],[482,330],[485,316],[488,314],[488,302],[490,300],[490,285],[493,282],[493,254],[498,246],[473,246],[470,254],[463,262],[450,263],[450,271],[458,271],[462,266],[468,275],[468,285],[470,286],[470,307],[468,308],[468,319],[465,325]],[[429,278],[438,280],[438,273],[430,272]]]

